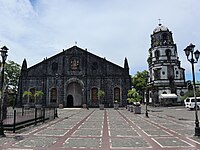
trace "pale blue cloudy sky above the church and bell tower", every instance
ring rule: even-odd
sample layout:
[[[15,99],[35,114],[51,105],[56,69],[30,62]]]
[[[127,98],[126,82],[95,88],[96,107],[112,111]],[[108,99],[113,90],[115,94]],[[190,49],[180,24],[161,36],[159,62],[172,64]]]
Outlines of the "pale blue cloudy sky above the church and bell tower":
[[[77,45],[123,66],[148,69],[150,35],[158,19],[173,32],[181,66],[191,79],[183,49],[200,49],[199,0],[0,0],[0,46],[8,59],[32,66]],[[200,61],[195,65],[200,80]]]

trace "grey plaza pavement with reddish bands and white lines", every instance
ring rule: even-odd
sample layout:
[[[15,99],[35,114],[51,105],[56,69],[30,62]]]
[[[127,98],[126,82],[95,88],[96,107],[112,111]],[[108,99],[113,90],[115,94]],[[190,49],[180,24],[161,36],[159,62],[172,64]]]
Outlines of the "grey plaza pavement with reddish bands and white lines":
[[[148,109],[149,118],[144,109],[142,114],[125,108],[59,109],[59,118],[51,122],[15,134],[6,132],[0,150],[200,149],[194,112],[183,107]]]

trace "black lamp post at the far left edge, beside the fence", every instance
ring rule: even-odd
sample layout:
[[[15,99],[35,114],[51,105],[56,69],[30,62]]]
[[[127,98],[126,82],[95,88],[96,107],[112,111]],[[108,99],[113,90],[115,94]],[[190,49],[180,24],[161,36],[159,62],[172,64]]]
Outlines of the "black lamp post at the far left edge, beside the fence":
[[[1,112],[0,112],[0,137],[5,137],[3,129],[3,108],[4,108],[4,66],[7,58],[8,48],[3,46],[0,50],[2,57],[2,70],[1,70]]]

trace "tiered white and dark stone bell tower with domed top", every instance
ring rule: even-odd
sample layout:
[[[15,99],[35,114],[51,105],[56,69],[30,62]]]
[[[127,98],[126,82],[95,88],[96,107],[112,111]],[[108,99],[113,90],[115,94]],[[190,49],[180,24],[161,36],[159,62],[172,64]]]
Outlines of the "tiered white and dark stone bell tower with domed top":
[[[172,32],[159,24],[151,35],[149,49],[148,97],[153,104],[163,104],[162,95],[177,96],[174,103],[187,91],[185,69],[181,67]],[[174,96],[175,98],[175,96]]]

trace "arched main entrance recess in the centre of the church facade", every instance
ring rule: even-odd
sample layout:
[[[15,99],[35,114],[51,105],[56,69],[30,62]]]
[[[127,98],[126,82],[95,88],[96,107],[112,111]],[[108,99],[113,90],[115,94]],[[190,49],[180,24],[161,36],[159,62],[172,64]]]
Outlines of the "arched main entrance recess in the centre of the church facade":
[[[77,82],[71,82],[66,88],[65,107],[81,107],[83,105],[83,87]]]

